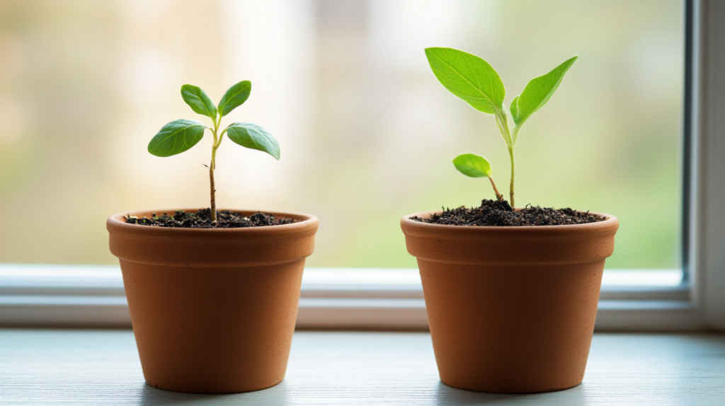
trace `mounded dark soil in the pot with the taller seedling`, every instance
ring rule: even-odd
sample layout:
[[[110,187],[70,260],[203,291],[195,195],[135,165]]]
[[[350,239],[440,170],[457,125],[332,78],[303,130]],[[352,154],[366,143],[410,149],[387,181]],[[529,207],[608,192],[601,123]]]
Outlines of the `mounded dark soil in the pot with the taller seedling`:
[[[441,214],[434,214],[430,219],[418,216],[411,217],[412,220],[430,224],[446,224],[450,226],[559,226],[563,224],[584,224],[596,223],[606,220],[605,217],[594,216],[586,213],[579,213],[571,208],[542,208],[531,207],[513,211],[508,202],[498,200],[483,200],[481,207],[447,208]]]

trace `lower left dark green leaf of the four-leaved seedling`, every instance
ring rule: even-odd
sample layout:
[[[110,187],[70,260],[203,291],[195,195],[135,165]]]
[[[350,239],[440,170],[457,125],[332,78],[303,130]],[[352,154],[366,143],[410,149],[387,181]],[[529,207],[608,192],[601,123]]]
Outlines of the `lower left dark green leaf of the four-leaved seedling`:
[[[149,143],[149,153],[155,156],[172,156],[182,153],[204,138],[203,122],[175,120],[161,127]]]

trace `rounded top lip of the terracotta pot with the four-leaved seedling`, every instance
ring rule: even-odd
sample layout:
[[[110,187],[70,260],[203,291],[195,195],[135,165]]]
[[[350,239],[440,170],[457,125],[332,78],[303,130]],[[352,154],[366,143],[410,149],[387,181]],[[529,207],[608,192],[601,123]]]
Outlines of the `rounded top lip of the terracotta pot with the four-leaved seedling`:
[[[199,210],[198,208],[176,208],[176,209],[159,209],[159,210],[136,210],[136,211],[122,211],[120,213],[115,213],[112,216],[109,216],[109,218],[106,221],[106,228],[110,232],[113,228],[114,232],[133,232],[138,233],[141,230],[147,230],[144,232],[145,234],[149,234],[149,236],[154,237],[201,237],[204,234],[207,234],[208,236],[211,235],[217,235],[217,236],[223,236],[226,235],[226,237],[231,237],[229,234],[244,234],[244,236],[265,236],[268,234],[291,234],[295,232],[300,232],[302,229],[307,229],[309,227],[315,227],[317,228],[317,224],[319,222],[318,218],[316,216],[313,216],[312,214],[305,214],[305,213],[296,213],[296,212],[290,212],[290,211],[261,211],[261,210],[246,210],[246,209],[236,209],[236,208],[220,208],[218,211],[222,210],[229,210],[233,211],[234,213],[244,213],[247,215],[259,213],[260,211],[262,213],[271,213],[275,217],[286,217],[291,219],[298,219],[296,223],[291,224],[279,224],[276,226],[267,226],[267,227],[237,227],[237,228],[228,228],[228,229],[191,229],[191,228],[176,228],[176,227],[149,227],[144,226],[141,224],[128,224],[125,221],[123,221],[123,216],[130,215],[130,216],[148,216],[151,213],[173,213],[177,210],[183,210],[186,212],[193,211],[196,212]]]

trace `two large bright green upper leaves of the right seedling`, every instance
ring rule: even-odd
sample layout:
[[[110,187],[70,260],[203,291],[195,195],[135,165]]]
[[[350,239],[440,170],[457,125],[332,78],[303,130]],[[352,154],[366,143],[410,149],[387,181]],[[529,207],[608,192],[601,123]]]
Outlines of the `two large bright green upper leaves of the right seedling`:
[[[428,64],[439,82],[473,109],[488,114],[503,110],[506,96],[501,77],[479,56],[453,48],[426,48]],[[521,96],[511,102],[513,122],[521,125],[541,109],[559,87],[564,74],[579,56],[573,56],[546,75],[532,79]]]

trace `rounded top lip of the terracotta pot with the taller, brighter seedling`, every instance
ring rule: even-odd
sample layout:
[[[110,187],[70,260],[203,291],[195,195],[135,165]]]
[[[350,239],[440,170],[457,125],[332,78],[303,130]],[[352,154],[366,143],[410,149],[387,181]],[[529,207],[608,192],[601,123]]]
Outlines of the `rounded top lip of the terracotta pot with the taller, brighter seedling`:
[[[521,208],[516,208],[521,210]],[[585,213],[584,211],[577,211],[578,213]],[[421,211],[418,213],[407,214],[400,220],[400,225],[407,228],[407,232],[415,229],[418,232],[424,234],[430,234],[434,232],[460,232],[461,234],[481,234],[481,233],[498,233],[498,234],[571,234],[571,233],[590,233],[603,231],[603,229],[615,229],[619,226],[619,219],[616,216],[607,213],[599,213],[597,211],[589,211],[589,214],[595,216],[605,217],[604,221],[597,221],[595,223],[585,224],[561,224],[561,225],[546,225],[546,226],[483,226],[483,227],[472,227],[472,226],[453,226],[448,224],[430,224],[423,223],[421,221],[415,221],[410,219],[413,216],[430,218],[433,214],[443,213],[442,210],[436,211]]]

